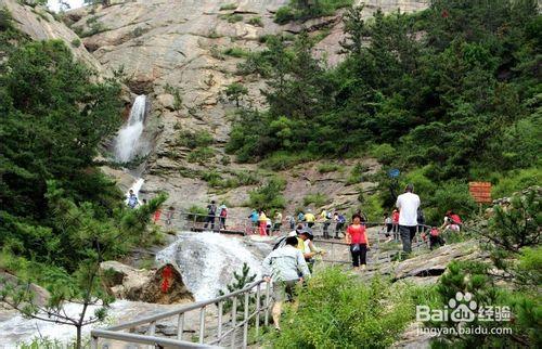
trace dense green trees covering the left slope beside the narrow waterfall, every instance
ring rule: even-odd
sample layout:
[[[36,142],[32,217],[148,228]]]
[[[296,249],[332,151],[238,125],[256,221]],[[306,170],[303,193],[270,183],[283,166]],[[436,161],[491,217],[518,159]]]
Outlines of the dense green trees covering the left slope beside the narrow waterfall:
[[[166,199],[127,209],[96,163],[120,125],[120,86],[100,79],[61,41],[30,42],[0,10],[0,299],[24,315],[81,327],[112,297],[100,263],[152,237],[146,223]],[[49,290],[39,303],[28,286]],[[66,301],[81,303],[69,316]],[[90,316],[86,313],[96,306]]]

